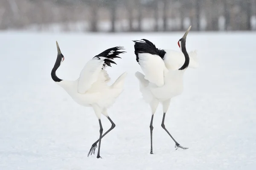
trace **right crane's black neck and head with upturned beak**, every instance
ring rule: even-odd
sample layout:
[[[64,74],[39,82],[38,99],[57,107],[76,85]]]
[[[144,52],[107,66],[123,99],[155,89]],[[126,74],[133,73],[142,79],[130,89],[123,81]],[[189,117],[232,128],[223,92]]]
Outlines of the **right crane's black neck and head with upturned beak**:
[[[189,66],[189,54],[186,51],[186,36],[189,33],[191,26],[189,26],[188,30],[186,31],[186,33],[183,35],[183,37],[178,41],[178,45],[180,47],[180,50],[182,51],[182,53],[184,54],[185,57],[185,62],[184,64],[179,68],[179,70],[185,70],[186,68],[188,68]]]

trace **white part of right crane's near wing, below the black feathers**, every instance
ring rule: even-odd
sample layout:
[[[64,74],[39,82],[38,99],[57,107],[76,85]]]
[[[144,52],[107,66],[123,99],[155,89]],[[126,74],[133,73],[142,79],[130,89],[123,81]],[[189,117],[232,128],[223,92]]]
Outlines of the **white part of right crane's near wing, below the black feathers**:
[[[145,74],[145,79],[156,84],[158,87],[164,85],[164,75],[168,72],[163,59],[158,55],[139,53],[139,64]]]

